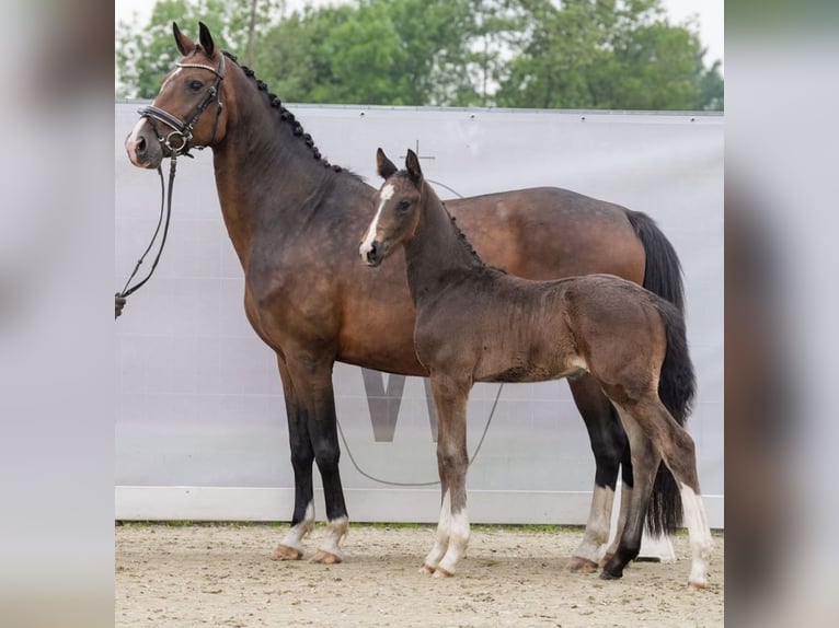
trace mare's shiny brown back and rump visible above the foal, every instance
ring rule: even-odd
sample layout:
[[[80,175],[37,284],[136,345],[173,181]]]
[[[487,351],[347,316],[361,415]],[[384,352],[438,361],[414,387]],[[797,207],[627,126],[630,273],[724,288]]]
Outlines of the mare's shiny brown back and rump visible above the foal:
[[[627,209],[536,187],[446,201],[487,263],[528,279],[607,272],[641,282],[645,254]]]

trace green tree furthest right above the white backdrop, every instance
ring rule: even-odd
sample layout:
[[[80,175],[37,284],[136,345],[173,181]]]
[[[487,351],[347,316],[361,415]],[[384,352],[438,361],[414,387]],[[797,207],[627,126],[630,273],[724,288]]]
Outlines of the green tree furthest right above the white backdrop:
[[[674,26],[660,0],[512,0],[524,27],[497,75],[509,107],[722,107],[719,65],[706,69],[691,24]]]

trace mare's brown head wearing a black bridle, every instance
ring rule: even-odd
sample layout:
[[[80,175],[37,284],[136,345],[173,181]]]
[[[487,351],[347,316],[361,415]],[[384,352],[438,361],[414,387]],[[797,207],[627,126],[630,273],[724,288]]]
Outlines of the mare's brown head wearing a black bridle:
[[[140,121],[125,140],[131,163],[156,168],[165,156],[193,147],[212,146],[225,137],[225,55],[203,23],[195,44],[172,23],[183,59],[163,79],[151,106],[141,107]]]

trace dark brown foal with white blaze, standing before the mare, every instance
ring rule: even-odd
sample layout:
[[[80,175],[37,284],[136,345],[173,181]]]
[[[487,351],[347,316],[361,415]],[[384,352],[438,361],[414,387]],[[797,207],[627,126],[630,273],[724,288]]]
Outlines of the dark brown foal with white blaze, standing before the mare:
[[[358,251],[368,266],[378,267],[404,249],[416,309],[414,346],[430,374],[439,421],[441,507],[437,539],[423,570],[451,575],[469,542],[467,402],[473,384],[587,373],[618,409],[634,474],[631,513],[601,575],[621,577],[637,556],[643,513],[664,460],[681,487],[687,512],[693,550],[688,582],[705,586],[713,540],[700,497],[696,447],[658,397],[659,380],[680,391],[682,411],[694,394],[682,314],[612,275],[532,281],[487,267],[426,183],[412,150],[404,171],[396,171],[381,149],[377,165],[386,181]]]

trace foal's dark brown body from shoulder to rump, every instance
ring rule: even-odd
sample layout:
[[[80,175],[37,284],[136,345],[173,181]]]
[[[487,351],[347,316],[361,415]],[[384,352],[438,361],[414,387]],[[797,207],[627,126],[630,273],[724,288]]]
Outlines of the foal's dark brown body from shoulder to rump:
[[[630,363],[660,364],[659,299],[611,275],[529,281],[484,267],[416,301],[414,342],[429,369],[475,382],[541,382]]]

